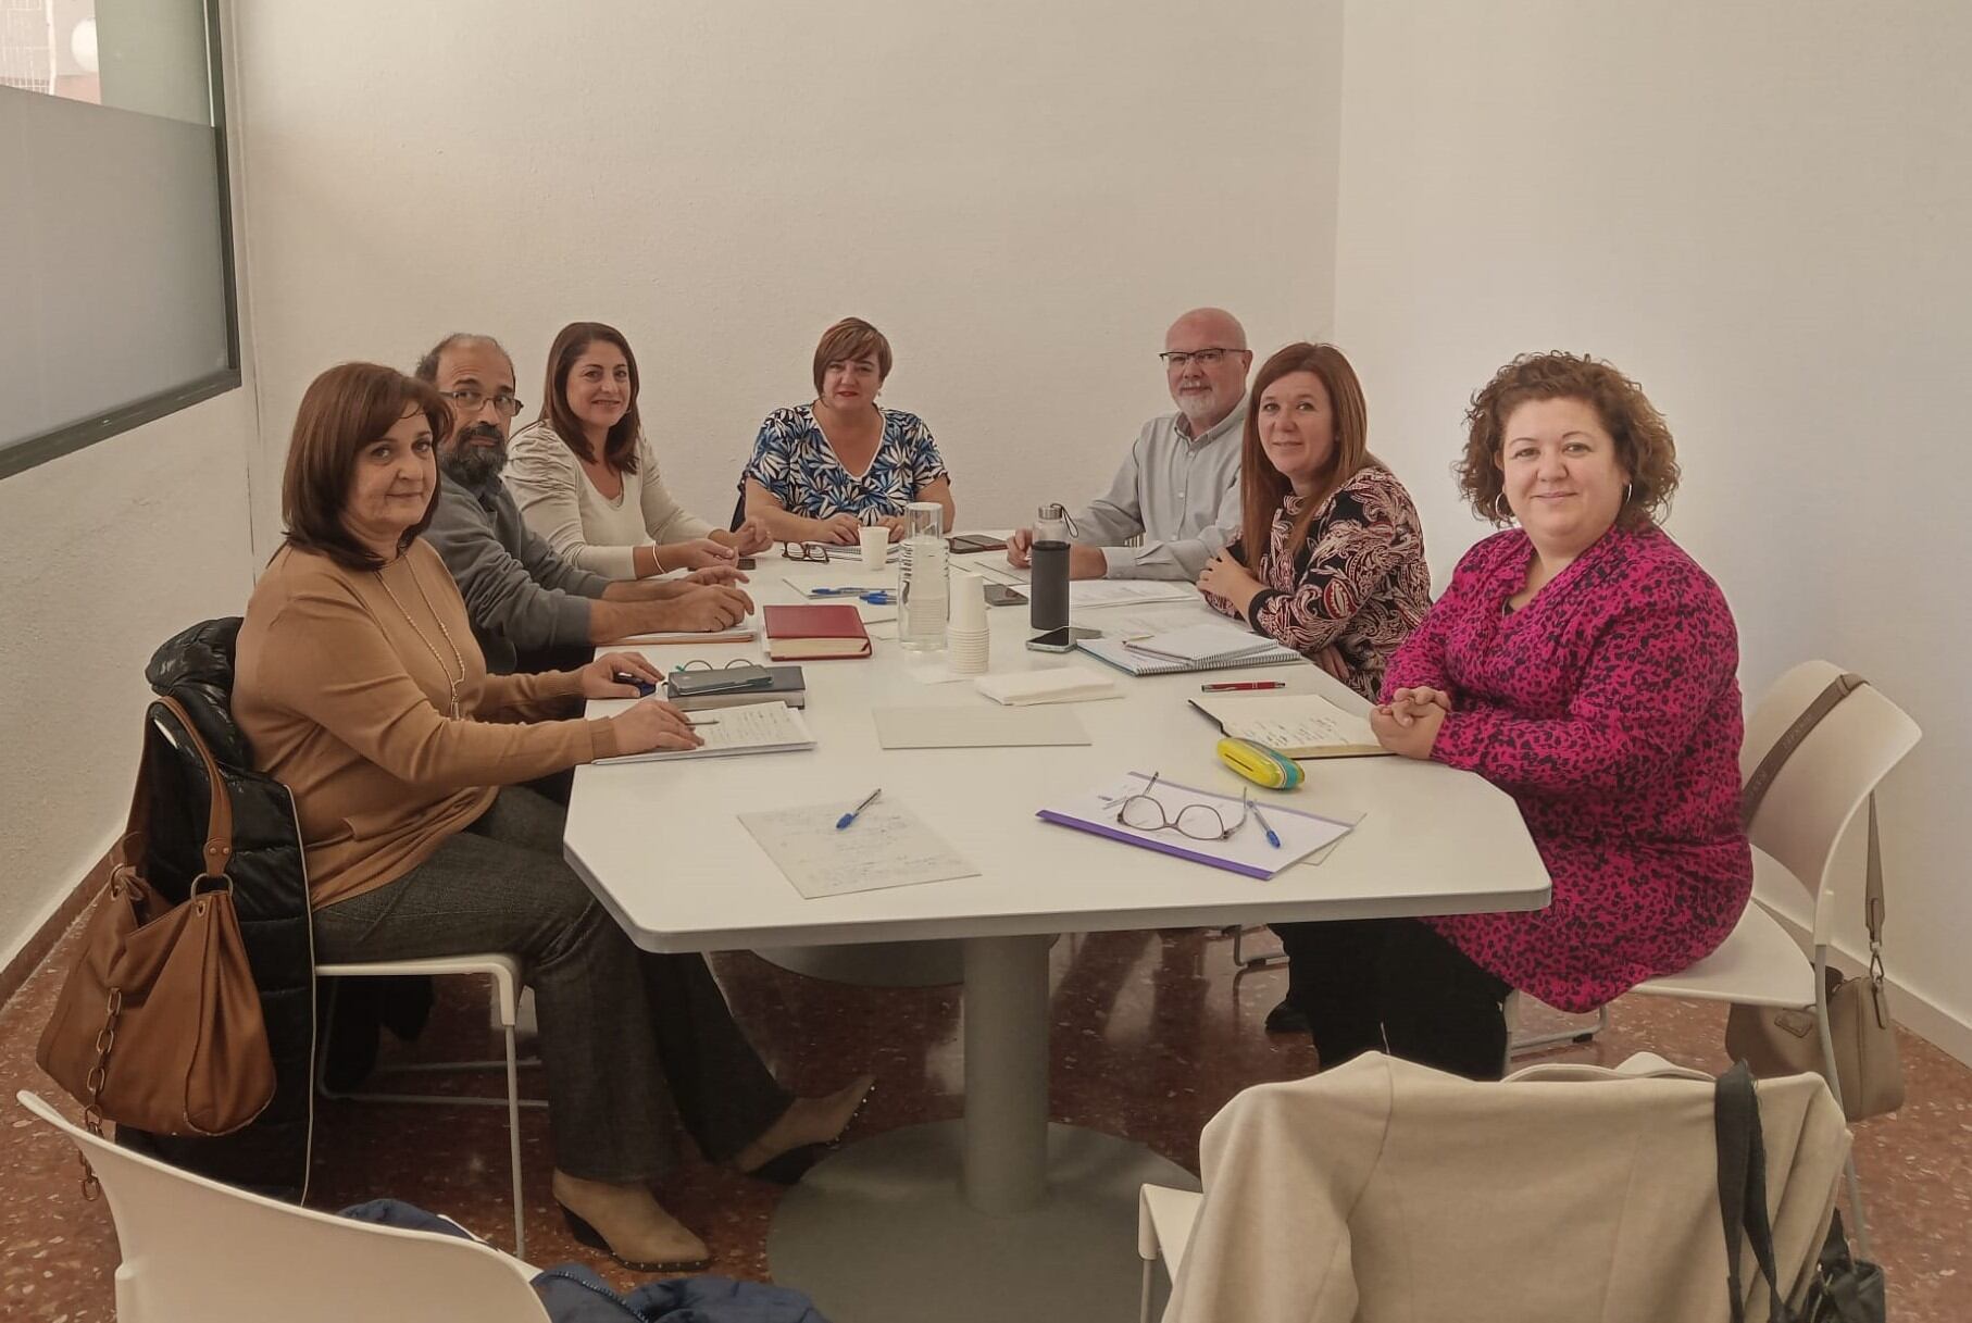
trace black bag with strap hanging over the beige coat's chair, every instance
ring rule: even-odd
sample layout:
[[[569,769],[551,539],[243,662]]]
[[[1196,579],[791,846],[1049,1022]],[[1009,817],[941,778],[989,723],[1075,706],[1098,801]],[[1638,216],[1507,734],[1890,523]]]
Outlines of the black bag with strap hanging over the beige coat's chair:
[[[1741,1236],[1753,1262],[1767,1276],[1767,1323],[1885,1323],[1883,1270],[1850,1254],[1842,1215],[1828,1222],[1814,1284],[1795,1315],[1787,1307],[1773,1264],[1773,1222],[1767,1217],[1767,1142],[1759,1128],[1759,1094],[1753,1071],[1741,1061],[1720,1077],[1712,1094],[1712,1128],[1718,1140],[1720,1219],[1726,1226],[1726,1280],[1731,1289],[1731,1323],[1745,1323],[1739,1284]]]

